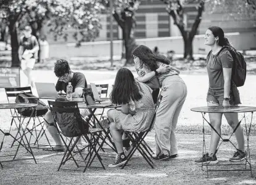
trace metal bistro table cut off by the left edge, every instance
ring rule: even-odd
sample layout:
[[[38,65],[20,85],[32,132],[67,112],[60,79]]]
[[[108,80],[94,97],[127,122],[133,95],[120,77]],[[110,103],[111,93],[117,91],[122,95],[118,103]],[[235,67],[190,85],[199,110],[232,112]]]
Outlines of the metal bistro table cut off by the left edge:
[[[20,126],[21,131],[22,131],[22,132],[19,132],[19,134],[20,134],[20,138],[19,138],[19,139],[16,139],[15,136],[11,135],[11,134],[10,134],[10,130],[9,130],[9,132],[4,132],[4,130],[2,130],[2,129],[0,128],[0,132],[2,132],[3,135],[4,135],[3,138],[2,138],[1,146],[0,146],[0,152],[1,152],[1,149],[2,149],[2,145],[3,145],[3,143],[4,143],[4,137],[5,137],[5,136],[11,136],[12,138],[14,138],[15,141],[17,141],[17,142],[19,143],[19,145],[18,145],[18,147],[17,147],[17,150],[16,150],[16,152],[15,152],[14,155],[4,155],[4,156],[0,156],[0,157],[10,157],[10,156],[14,156],[12,160],[0,161],[1,167],[2,167],[2,163],[1,163],[1,162],[11,162],[11,161],[15,161],[15,160],[34,159],[34,160],[35,160],[35,163],[36,163],[36,159],[35,159],[35,156],[34,156],[34,154],[33,154],[32,149],[30,148],[30,144],[29,144],[29,142],[28,142],[28,138],[27,138],[27,136],[25,135],[25,130],[27,130],[27,127],[28,127],[28,124],[29,124],[29,122],[30,122],[30,119],[31,119],[33,113],[36,111],[36,106],[37,106],[37,104],[35,104],[35,103],[1,103],[1,104],[0,104],[0,109],[14,109],[15,112],[17,111],[17,110],[16,110],[17,108],[32,108],[32,109],[33,109],[33,111],[31,112],[31,115],[30,115],[30,117],[29,117],[29,119],[28,119],[27,124],[25,124],[25,128],[22,127],[23,122],[24,122],[25,119],[21,119],[22,116],[21,116],[21,115],[19,116],[19,114],[16,112],[17,116],[19,116],[19,117],[18,117],[19,126]],[[22,120],[22,121],[21,121],[21,120]],[[12,125],[10,125],[10,129],[11,129],[11,127],[12,127]],[[25,140],[24,140],[23,138],[25,138]],[[32,155],[32,158],[15,159],[15,157],[17,156],[17,153],[18,153],[18,151],[19,151],[20,146],[22,146],[23,148],[25,148],[25,149],[27,150],[27,152],[29,152],[29,153]]]

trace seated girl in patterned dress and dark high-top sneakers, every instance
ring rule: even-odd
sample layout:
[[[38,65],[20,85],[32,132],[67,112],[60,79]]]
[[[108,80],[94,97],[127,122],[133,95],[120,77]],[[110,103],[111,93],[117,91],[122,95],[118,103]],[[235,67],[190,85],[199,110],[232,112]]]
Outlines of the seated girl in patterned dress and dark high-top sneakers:
[[[121,109],[110,109],[107,116],[110,121],[110,132],[117,148],[117,156],[109,167],[119,167],[126,162],[123,152],[122,131],[142,132],[149,128],[154,116],[155,105],[152,99],[152,89],[134,81],[134,76],[127,68],[117,72],[115,85],[111,93],[114,104],[121,104]]]

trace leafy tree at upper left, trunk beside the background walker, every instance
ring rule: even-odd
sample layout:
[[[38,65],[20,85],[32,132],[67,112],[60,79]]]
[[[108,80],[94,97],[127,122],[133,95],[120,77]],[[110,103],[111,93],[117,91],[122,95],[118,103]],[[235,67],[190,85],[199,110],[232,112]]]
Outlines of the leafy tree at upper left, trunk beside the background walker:
[[[9,23],[12,47],[12,65],[19,66],[17,27],[28,17],[28,22],[40,30],[44,20],[51,17],[51,32],[55,38],[67,39],[67,30],[73,29],[73,37],[81,42],[93,41],[101,28],[99,14],[104,7],[100,0],[1,0],[0,20]],[[33,15],[33,16],[32,16]],[[34,19],[34,20],[33,20]],[[31,22],[30,22],[31,21]],[[18,26],[17,26],[18,25]],[[14,64],[15,63],[15,64]]]

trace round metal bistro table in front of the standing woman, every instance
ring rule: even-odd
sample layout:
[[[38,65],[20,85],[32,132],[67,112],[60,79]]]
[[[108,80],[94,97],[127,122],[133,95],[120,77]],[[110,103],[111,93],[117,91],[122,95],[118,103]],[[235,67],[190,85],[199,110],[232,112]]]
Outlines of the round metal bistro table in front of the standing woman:
[[[249,136],[250,136],[250,129],[252,126],[252,119],[253,119],[253,114],[256,111],[256,107],[252,107],[252,106],[202,106],[202,107],[197,107],[197,108],[192,108],[191,111],[194,112],[201,112],[202,114],[202,118],[203,118],[203,154],[206,153],[206,148],[205,148],[205,129],[204,129],[204,123],[205,121],[207,122],[207,124],[210,125],[210,127],[220,136],[221,138],[221,143],[218,145],[218,148],[220,148],[220,145],[223,142],[230,142],[233,146],[234,144],[230,141],[231,136],[236,132],[237,127],[239,127],[239,125],[241,124],[242,120],[244,120],[244,124],[246,127],[246,137],[247,137],[247,157],[246,157],[246,162],[244,163],[237,163],[237,162],[233,162],[233,163],[226,163],[226,164],[210,164],[210,163],[206,163],[206,164],[202,164],[202,170],[203,170],[203,166],[206,166],[206,171],[207,171],[207,177],[208,175],[208,171],[250,171],[250,174],[252,175],[252,166],[251,166],[251,162],[250,162],[250,148],[249,148]],[[213,126],[210,124],[210,122],[205,118],[205,114],[206,112],[208,113],[244,113],[244,116],[241,118],[241,120],[239,120],[236,128],[234,128],[233,133],[229,136],[228,139],[225,139],[223,137],[221,137],[220,133],[217,132],[217,130],[215,130],[215,128],[213,128]],[[250,122],[247,123],[246,122],[246,112],[251,112],[251,116],[250,116]],[[217,150],[218,150],[217,148]],[[236,146],[234,146],[234,148],[236,148]],[[247,163],[249,165],[249,168],[247,168]],[[245,168],[239,168],[239,169],[217,169],[217,170],[209,170],[208,167],[209,166],[227,166],[227,165],[245,165]]]

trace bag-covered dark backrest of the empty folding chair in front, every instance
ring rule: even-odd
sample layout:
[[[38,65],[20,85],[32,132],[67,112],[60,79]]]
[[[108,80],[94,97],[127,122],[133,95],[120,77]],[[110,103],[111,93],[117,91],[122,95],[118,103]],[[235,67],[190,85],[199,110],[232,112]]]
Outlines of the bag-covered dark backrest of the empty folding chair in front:
[[[76,101],[48,101],[48,104],[64,136],[75,137],[89,132],[89,124],[81,117]]]

